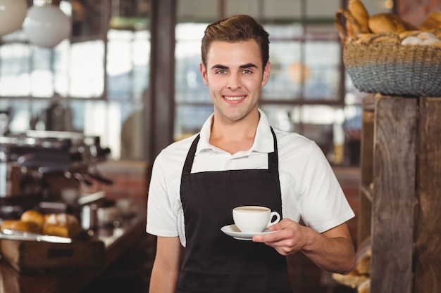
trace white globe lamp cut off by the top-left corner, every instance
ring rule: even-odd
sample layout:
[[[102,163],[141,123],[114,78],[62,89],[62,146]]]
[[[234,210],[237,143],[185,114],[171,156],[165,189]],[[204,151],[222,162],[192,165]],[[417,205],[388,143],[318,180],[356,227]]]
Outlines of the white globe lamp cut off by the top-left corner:
[[[0,36],[20,29],[26,11],[26,0],[0,0]]]

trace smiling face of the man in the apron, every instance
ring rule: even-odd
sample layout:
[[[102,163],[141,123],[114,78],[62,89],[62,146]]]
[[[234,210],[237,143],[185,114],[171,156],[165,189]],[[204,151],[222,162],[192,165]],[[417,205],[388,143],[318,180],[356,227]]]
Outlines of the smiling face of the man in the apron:
[[[261,86],[268,82],[271,65],[263,68],[256,41],[213,41],[200,70],[209,86],[215,119],[234,122],[257,112]]]

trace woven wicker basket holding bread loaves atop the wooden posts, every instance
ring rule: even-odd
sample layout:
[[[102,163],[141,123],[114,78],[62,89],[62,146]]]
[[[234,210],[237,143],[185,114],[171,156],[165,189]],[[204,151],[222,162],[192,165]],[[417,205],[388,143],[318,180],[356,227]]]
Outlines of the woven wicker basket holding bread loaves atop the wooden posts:
[[[374,34],[368,41],[347,37],[337,11],[343,62],[356,89],[390,96],[441,96],[441,47],[402,45],[398,34]],[[380,40],[383,39],[383,40]]]

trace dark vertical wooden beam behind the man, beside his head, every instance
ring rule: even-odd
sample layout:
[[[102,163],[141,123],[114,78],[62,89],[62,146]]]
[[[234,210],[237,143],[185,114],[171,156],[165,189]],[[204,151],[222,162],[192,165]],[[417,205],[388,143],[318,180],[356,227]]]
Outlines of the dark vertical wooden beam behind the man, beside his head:
[[[177,0],[151,0],[151,56],[147,97],[147,160],[173,142]]]

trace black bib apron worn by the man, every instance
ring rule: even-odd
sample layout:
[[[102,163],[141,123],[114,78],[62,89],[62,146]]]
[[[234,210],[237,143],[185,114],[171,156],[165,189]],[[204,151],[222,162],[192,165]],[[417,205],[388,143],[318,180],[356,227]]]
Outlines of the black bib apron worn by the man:
[[[194,139],[182,170],[187,245],[176,292],[292,292],[285,256],[221,231],[233,223],[232,208],[242,205],[269,207],[282,216],[277,141],[271,132],[275,151],[268,154],[268,169],[191,174],[199,136]]]

